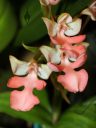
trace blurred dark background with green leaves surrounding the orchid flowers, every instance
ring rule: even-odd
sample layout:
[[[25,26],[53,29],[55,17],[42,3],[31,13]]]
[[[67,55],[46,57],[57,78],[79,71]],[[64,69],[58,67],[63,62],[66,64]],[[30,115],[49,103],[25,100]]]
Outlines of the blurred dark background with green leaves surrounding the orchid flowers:
[[[61,0],[52,7],[52,12],[54,15],[68,12],[76,16],[91,2]],[[16,112],[10,108],[10,89],[6,86],[12,76],[9,55],[28,60],[32,54],[23,48],[22,43],[30,46],[49,43],[42,16],[39,0],[0,0],[0,128],[96,128],[96,22],[91,20],[82,31],[90,44],[84,65],[89,74],[86,90],[68,93],[71,102],[68,104],[49,79],[46,90],[34,92],[41,100],[39,106],[30,112]],[[82,16],[83,24],[86,18]]]

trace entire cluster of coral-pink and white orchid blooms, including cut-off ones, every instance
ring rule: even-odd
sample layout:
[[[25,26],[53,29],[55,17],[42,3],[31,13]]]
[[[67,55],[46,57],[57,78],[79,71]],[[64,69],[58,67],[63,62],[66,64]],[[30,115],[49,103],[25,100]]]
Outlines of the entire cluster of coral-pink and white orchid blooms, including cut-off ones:
[[[60,0],[40,0],[43,6],[55,5]],[[90,7],[92,8],[93,5]],[[85,9],[81,14],[88,14]],[[90,12],[91,13],[91,12]],[[95,20],[91,13],[91,18]],[[52,18],[52,17],[51,17]],[[50,37],[50,46],[41,46],[40,51],[46,58],[47,64],[38,64],[34,59],[29,62],[20,61],[10,56],[12,78],[8,87],[20,88],[11,92],[11,107],[18,111],[29,111],[39,104],[39,99],[33,90],[42,90],[46,86],[45,80],[52,72],[59,72],[57,81],[69,92],[82,92],[88,81],[85,69],[79,69],[87,59],[88,43],[83,42],[86,35],[79,34],[82,26],[81,18],[72,18],[68,13],[62,13],[57,20],[43,17]]]

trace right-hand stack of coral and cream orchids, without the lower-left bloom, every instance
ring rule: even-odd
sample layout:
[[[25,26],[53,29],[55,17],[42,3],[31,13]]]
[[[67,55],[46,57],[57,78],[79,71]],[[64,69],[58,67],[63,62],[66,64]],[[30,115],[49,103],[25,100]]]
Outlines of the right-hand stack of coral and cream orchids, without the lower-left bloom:
[[[85,35],[77,35],[81,29],[81,19],[68,14],[61,14],[57,22],[43,18],[51,39],[52,47],[41,46],[40,50],[47,60],[47,65],[54,72],[62,72],[57,81],[70,92],[82,92],[88,81],[86,70],[81,67],[86,59],[87,43],[84,43]],[[72,37],[71,37],[72,36]]]

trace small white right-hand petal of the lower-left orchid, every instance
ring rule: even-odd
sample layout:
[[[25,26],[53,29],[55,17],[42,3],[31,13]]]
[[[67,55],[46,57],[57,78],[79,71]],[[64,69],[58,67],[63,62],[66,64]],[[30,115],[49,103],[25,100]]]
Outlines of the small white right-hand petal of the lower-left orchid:
[[[52,70],[48,67],[48,65],[41,64],[41,66],[38,68],[37,75],[40,78],[47,80],[51,73],[52,73]]]

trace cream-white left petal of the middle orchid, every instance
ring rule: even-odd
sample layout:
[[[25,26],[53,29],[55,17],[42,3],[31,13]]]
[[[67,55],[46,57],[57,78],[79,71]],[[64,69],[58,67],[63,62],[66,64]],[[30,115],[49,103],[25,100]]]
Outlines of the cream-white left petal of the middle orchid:
[[[40,50],[48,62],[52,62],[54,64],[60,63],[61,58],[59,50],[57,51],[57,49],[48,46],[42,46],[40,47]]]

